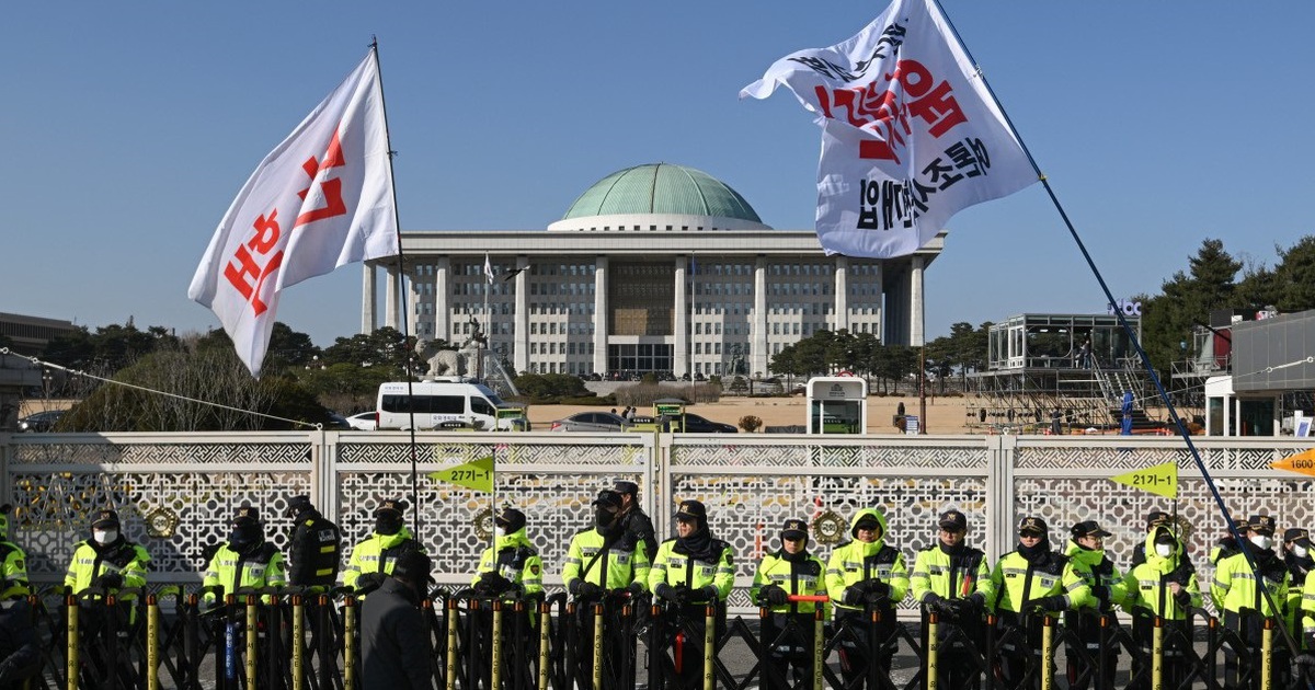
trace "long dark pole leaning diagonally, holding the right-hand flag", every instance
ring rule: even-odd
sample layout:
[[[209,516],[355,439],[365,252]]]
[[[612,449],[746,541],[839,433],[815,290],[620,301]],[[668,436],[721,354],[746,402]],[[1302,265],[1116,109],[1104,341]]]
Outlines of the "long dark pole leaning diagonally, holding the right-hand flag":
[[[995,97],[995,91],[990,88],[990,83],[986,81],[986,75],[982,74],[981,66],[978,66],[977,59],[973,58],[972,51],[968,50],[968,46],[964,43],[963,37],[959,35],[959,29],[956,29],[955,24],[949,21],[949,14],[945,13],[945,8],[942,7],[940,0],[928,0],[928,1],[936,5],[936,9],[940,12],[940,18],[945,21],[945,26],[949,28],[949,33],[953,34],[955,41],[959,43],[959,49],[964,51],[964,55],[967,55],[968,60],[973,64],[973,70],[977,72],[977,78],[981,79],[982,87],[986,89],[986,93],[995,104],[995,108],[999,109],[1001,117],[1005,118],[1005,126],[1009,127],[1009,131],[1018,141],[1018,146],[1023,150],[1023,155],[1027,156],[1027,162],[1032,166],[1032,170],[1036,171],[1036,177],[1038,180],[1040,180],[1041,187],[1045,188],[1045,193],[1051,197],[1051,204],[1053,204],[1055,210],[1060,213],[1060,218],[1064,221],[1064,226],[1068,227],[1069,235],[1073,238],[1073,242],[1077,244],[1078,251],[1082,252],[1082,258],[1086,260],[1086,265],[1091,269],[1091,275],[1095,276],[1095,281],[1099,283],[1101,290],[1105,293],[1106,304],[1110,305],[1116,304],[1114,293],[1110,290],[1110,285],[1106,284],[1105,276],[1101,275],[1101,269],[1095,267],[1095,260],[1091,259],[1091,254],[1086,250],[1086,244],[1082,242],[1082,238],[1078,237],[1077,229],[1073,226],[1073,222],[1069,219],[1068,213],[1064,210],[1064,205],[1060,204],[1059,197],[1055,195],[1055,189],[1051,188],[1049,180],[1045,177],[1045,173],[1041,172],[1041,168],[1036,164],[1036,159],[1032,158],[1032,152],[1027,149],[1027,143],[1023,142],[1023,137],[1018,133],[1018,129],[1014,126],[1014,122],[1009,118],[1009,113],[1005,110],[1005,105],[1001,104],[999,99]],[[1159,393],[1160,400],[1164,401],[1164,406],[1169,411],[1169,419],[1173,421],[1173,426],[1178,430],[1178,435],[1182,436],[1182,442],[1187,446],[1187,452],[1191,453],[1191,460],[1197,464],[1197,469],[1201,471],[1201,478],[1203,478],[1206,486],[1210,488],[1210,495],[1214,497],[1215,505],[1219,506],[1219,513],[1223,514],[1224,517],[1224,523],[1228,526],[1228,534],[1231,534],[1232,538],[1237,540],[1237,543],[1241,547],[1241,552],[1247,559],[1247,565],[1251,566],[1252,576],[1256,577],[1257,582],[1261,582],[1262,580],[1260,578],[1258,568],[1256,566],[1255,555],[1251,552],[1251,544],[1245,539],[1243,539],[1240,534],[1237,534],[1237,528],[1233,524],[1232,514],[1228,513],[1228,506],[1224,505],[1224,499],[1219,494],[1219,488],[1215,486],[1215,481],[1210,476],[1210,471],[1206,469],[1206,463],[1205,460],[1201,459],[1201,452],[1197,449],[1197,446],[1191,443],[1191,434],[1187,432],[1187,426],[1182,422],[1182,418],[1178,417],[1178,410],[1173,406],[1173,401],[1169,400],[1168,390],[1165,390],[1164,384],[1160,382],[1160,377],[1156,375],[1155,368],[1151,367],[1151,356],[1147,355],[1147,351],[1141,347],[1141,340],[1137,339],[1137,334],[1134,333],[1132,326],[1128,323],[1127,317],[1123,314],[1123,310],[1115,309],[1114,317],[1119,321],[1119,326],[1123,327],[1123,331],[1128,334],[1128,340],[1132,343],[1134,350],[1136,350],[1137,356],[1141,359],[1141,365],[1145,367],[1147,375],[1151,377],[1151,382],[1152,385],[1155,385],[1156,393]],[[1269,602],[1270,610],[1278,611],[1278,607],[1276,606],[1273,597],[1269,594],[1269,590],[1265,587],[1258,587],[1258,590],[1265,594],[1265,599]],[[1294,655],[1298,653],[1299,649],[1297,647],[1297,641],[1293,639],[1291,632],[1287,631],[1286,626],[1278,626],[1278,630],[1282,631],[1283,641],[1287,644],[1291,652]]]

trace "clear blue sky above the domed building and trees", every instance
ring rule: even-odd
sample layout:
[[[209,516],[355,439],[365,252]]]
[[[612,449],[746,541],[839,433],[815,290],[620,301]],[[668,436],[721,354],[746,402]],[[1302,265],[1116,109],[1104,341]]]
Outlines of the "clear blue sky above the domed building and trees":
[[[1253,264],[1311,234],[1315,3],[943,0],[1115,297],[1205,238]],[[884,3],[36,3],[0,37],[0,311],[217,327],[187,287],[256,163],[380,42],[404,231],[539,229],[608,173],[668,162],[811,229],[819,133],[736,99]],[[949,222],[927,334],[1105,298],[1044,189]],[[327,346],[360,271],[291,288]]]

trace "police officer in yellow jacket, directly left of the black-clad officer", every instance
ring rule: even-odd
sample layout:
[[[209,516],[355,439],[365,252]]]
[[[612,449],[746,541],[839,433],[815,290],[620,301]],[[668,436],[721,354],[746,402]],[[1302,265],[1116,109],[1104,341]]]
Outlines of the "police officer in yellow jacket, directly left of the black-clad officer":
[[[206,587],[222,587],[225,594],[234,594],[241,587],[281,587],[288,584],[283,565],[283,553],[277,547],[264,540],[264,526],[260,511],[252,506],[242,506],[233,520],[233,528],[226,543],[220,545],[205,568]],[[217,601],[212,589],[205,593],[205,603]]]

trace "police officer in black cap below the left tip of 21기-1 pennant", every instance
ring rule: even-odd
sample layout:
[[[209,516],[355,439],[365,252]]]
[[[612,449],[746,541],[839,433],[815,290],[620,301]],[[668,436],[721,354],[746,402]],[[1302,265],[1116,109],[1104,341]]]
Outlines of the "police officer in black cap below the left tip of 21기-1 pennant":
[[[1070,530],[1070,539],[1065,555],[1073,564],[1073,570],[1086,581],[1090,595],[1065,612],[1065,624],[1082,641],[1085,656],[1076,644],[1068,645],[1068,679],[1074,690],[1082,690],[1097,678],[1095,664],[1101,658],[1102,637],[1107,637],[1103,644],[1107,647],[1105,683],[1102,687],[1112,687],[1114,673],[1119,665],[1119,647],[1110,635],[1102,632],[1109,630],[1101,626],[1101,616],[1114,616],[1114,607],[1123,605],[1127,599],[1127,585],[1123,582],[1123,573],[1114,566],[1114,561],[1105,553],[1105,538],[1112,536],[1095,520],[1084,520]],[[1078,679],[1084,669],[1090,669],[1089,674]]]

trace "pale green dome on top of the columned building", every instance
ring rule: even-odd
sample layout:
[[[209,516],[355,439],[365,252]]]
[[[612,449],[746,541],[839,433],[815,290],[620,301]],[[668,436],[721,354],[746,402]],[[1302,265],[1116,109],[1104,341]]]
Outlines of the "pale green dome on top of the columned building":
[[[562,219],[639,213],[763,222],[748,201],[726,183],[701,170],[669,163],[635,166],[608,175],[585,189]]]

